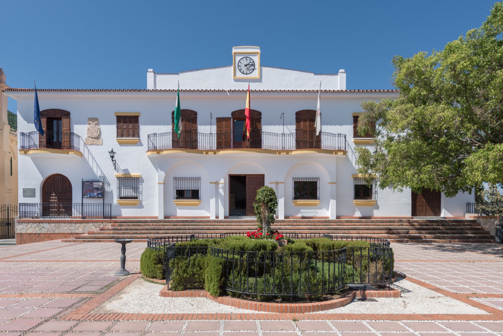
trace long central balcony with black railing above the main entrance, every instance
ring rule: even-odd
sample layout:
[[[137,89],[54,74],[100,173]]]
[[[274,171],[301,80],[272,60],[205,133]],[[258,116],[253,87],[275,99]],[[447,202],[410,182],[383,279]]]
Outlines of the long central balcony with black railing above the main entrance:
[[[148,151],[160,154],[164,150],[220,151],[244,149],[248,151],[266,150],[271,153],[284,153],[299,149],[313,152],[327,152],[346,155],[346,134],[314,131],[296,133],[273,133],[251,131],[249,138],[242,131],[224,133],[200,133],[182,131],[180,138],[175,132],[152,133],[148,135]]]

